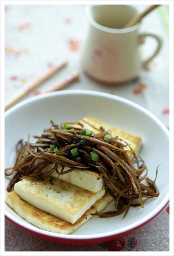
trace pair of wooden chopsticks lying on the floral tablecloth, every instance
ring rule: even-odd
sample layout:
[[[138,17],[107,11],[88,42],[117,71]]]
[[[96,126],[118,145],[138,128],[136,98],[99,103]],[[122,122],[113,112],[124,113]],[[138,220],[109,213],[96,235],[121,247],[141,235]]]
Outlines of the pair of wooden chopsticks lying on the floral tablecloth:
[[[21,89],[16,95],[14,95],[12,98],[10,98],[7,101],[7,103],[5,103],[5,111],[8,108],[12,107],[12,105],[14,105],[16,102],[18,102],[21,98],[23,98],[28,93],[33,91],[33,89],[36,89],[40,84],[42,84],[47,79],[52,77],[52,75],[54,75],[60,69],[65,67],[66,64],[67,64],[67,61],[65,59],[61,60],[59,63],[54,65],[54,67],[52,69],[50,69],[49,71],[42,74],[42,76],[38,77],[38,79],[36,79],[31,85],[25,87],[24,89]],[[42,93],[61,90],[61,89],[65,88],[66,86],[68,86],[69,84],[77,81],[78,79],[79,79],[78,72],[73,71],[70,74],[68,74],[64,79],[59,81],[57,84],[55,84],[54,86],[52,86],[51,88],[47,89],[46,91],[44,91]],[[38,93],[38,94],[42,94],[42,93]]]

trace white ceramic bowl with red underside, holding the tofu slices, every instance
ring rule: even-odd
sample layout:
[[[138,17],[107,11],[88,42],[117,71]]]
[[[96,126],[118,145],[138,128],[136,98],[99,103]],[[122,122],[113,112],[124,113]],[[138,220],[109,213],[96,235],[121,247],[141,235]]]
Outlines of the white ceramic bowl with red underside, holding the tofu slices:
[[[142,137],[141,157],[148,166],[148,176],[158,177],[158,198],[148,199],[144,208],[131,208],[124,219],[93,216],[72,234],[56,234],[40,230],[20,218],[5,204],[5,217],[19,229],[36,237],[66,244],[106,242],[134,232],[155,218],[169,201],[169,132],[153,114],[141,106],[112,94],[65,90],[24,100],[5,112],[5,167],[14,163],[15,146],[28,134],[40,135],[54,122],[79,121],[90,115]],[[32,139],[32,138],[31,138]],[[35,140],[34,140],[35,141]],[[5,194],[8,180],[5,178]]]

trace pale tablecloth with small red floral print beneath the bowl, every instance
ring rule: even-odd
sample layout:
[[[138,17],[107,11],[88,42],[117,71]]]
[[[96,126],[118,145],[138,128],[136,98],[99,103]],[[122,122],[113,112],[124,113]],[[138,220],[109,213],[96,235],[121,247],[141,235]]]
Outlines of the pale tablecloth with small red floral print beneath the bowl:
[[[38,87],[37,92],[42,92],[63,79],[69,72],[77,70],[80,74],[79,81],[66,87],[66,90],[89,89],[127,98],[148,109],[169,128],[170,6],[158,7],[142,22],[141,31],[156,33],[163,40],[160,53],[150,62],[150,70],[142,70],[140,77],[135,81],[117,86],[93,81],[80,66],[80,50],[88,29],[84,7],[85,5],[75,4],[23,5],[22,2],[20,5],[5,5],[5,102],[54,65],[54,62],[66,58],[68,65]],[[141,11],[147,5],[136,5],[136,7]],[[147,42],[144,48],[145,54],[149,53],[150,42]],[[36,91],[32,91],[25,98],[35,94]],[[24,233],[5,220],[5,252],[8,252],[6,255],[14,251],[49,251],[49,255],[57,255],[52,254],[57,251],[61,251],[61,255],[66,255],[63,254],[65,251],[66,253],[99,251],[100,255],[101,252],[107,252],[102,254],[107,255],[109,251],[167,252],[169,251],[169,204],[155,219],[138,231],[111,242],[92,245],[48,242]]]

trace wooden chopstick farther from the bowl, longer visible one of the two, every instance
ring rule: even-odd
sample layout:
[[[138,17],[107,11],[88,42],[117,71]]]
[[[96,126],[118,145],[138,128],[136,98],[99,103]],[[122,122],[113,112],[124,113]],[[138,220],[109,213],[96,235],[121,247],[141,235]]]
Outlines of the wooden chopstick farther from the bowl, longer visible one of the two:
[[[63,59],[59,61],[57,64],[55,64],[49,71],[42,74],[42,76],[38,77],[32,84],[28,85],[24,89],[21,89],[17,94],[15,94],[12,98],[10,98],[7,103],[5,103],[5,111],[12,107],[16,102],[18,102],[21,98],[26,96],[28,93],[33,91],[36,87],[38,87],[40,84],[45,82],[49,77],[52,77],[53,74],[58,72],[60,69],[65,67],[67,64],[67,60]]]

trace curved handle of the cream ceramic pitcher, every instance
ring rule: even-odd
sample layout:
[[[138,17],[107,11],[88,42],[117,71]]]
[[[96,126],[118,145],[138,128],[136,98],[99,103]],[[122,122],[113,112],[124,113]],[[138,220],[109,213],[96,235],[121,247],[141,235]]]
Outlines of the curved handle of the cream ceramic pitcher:
[[[148,70],[149,69],[149,62],[159,53],[160,49],[162,48],[162,39],[160,38],[160,36],[157,36],[153,33],[141,33],[139,35],[139,43],[141,43],[141,44],[144,43],[146,36],[151,36],[151,37],[155,38],[156,41],[157,41],[157,46],[155,48],[154,53],[152,53],[146,60],[144,60],[142,62],[142,68]]]

